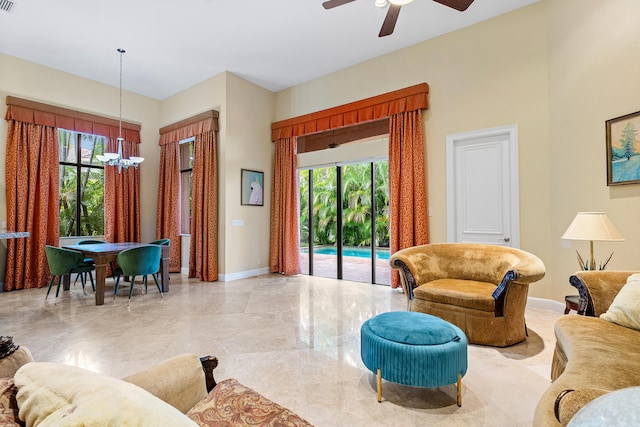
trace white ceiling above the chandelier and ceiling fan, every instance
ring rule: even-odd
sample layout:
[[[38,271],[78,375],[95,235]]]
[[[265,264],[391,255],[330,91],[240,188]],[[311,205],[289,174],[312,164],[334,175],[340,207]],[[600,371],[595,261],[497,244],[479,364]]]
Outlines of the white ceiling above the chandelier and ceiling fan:
[[[416,0],[384,38],[374,0],[11,1],[1,53],[118,86],[121,47],[124,89],[165,99],[223,71],[279,91],[538,0]]]

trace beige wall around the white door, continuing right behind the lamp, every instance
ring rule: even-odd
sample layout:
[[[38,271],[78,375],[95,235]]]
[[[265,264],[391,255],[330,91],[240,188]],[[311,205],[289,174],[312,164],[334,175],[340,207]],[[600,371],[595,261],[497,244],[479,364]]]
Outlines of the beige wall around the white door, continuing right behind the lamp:
[[[640,186],[607,187],[604,126],[640,110],[639,15],[635,0],[542,0],[282,91],[276,120],[427,82],[433,242],[446,240],[446,135],[517,124],[521,247],[547,267],[530,295],[563,301],[588,252],[560,239],[578,211],[607,212],[626,237],[597,242],[597,259],[640,270]]]

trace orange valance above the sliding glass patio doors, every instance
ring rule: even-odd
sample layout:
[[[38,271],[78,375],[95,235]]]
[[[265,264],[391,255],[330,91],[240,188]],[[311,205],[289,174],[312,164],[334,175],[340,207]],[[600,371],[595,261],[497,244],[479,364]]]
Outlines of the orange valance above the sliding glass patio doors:
[[[420,83],[404,89],[328,108],[271,124],[271,140],[322,132],[406,111],[429,108],[429,85]]]

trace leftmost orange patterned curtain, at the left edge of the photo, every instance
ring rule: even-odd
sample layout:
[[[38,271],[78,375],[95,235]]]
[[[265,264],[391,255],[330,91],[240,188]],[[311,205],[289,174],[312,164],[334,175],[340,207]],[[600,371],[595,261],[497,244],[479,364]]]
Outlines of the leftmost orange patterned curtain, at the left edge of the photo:
[[[45,245],[60,237],[58,141],[54,127],[7,120],[7,229],[30,237],[7,240],[4,290],[42,287],[50,273]]]

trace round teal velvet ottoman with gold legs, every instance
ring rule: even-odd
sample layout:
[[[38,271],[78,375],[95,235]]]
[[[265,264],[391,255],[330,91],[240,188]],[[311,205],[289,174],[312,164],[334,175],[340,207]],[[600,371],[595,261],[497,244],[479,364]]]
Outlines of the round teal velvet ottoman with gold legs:
[[[456,384],[462,405],[462,377],[467,372],[467,337],[438,317],[411,311],[379,314],[360,330],[362,362],[382,379],[412,387]]]

